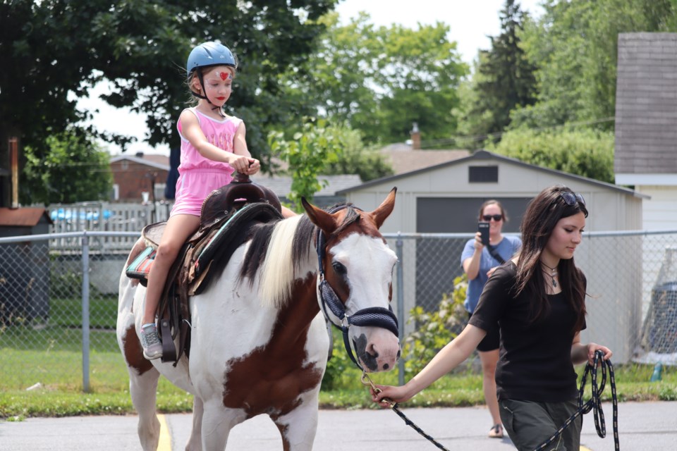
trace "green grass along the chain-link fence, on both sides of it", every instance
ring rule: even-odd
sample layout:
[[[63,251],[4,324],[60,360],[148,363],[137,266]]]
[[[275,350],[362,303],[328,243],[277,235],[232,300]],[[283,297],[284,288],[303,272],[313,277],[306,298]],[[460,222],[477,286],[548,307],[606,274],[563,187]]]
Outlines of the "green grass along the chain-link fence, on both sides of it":
[[[83,393],[80,301],[53,299],[47,325],[0,327],[0,419],[20,421],[30,416],[134,414],[129,379],[115,338],[116,299],[90,303],[90,393]],[[56,312],[59,314],[57,315]],[[52,319],[54,318],[54,319]],[[374,409],[360,372],[336,341],[329,362],[322,409]],[[626,364],[615,368],[619,401],[677,400],[677,368],[666,366],[662,381],[649,382],[652,365]],[[582,367],[579,369],[582,372]],[[331,376],[329,374],[331,373]],[[411,375],[408,375],[409,378]],[[396,371],[372,376],[374,383],[395,385]],[[26,388],[40,384],[40,388]],[[590,394],[590,381],[586,387]],[[611,399],[607,385],[604,400]],[[441,378],[403,407],[461,407],[484,404],[482,376],[467,365]],[[160,378],[159,412],[190,412],[193,396]]]

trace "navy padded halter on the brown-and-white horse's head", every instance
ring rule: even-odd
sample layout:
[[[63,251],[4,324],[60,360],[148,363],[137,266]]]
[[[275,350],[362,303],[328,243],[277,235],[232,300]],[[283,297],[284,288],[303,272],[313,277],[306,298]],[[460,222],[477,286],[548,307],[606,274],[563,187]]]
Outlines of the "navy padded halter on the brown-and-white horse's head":
[[[329,213],[336,213],[341,209],[346,208],[346,205],[337,206],[334,209],[331,209]],[[354,208],[354,207],[353,207]],[[327,254],[327,237],[324,236],[322,229],[317,228],[317,261],[319,266],[319,301],[320,307],[322,307],[322,313],[324,314],[324,319],[331,322],[336,328],[341,330],[343,333],[343,345],[346,347],[346,352],[348,356],[353,361],[355,365],[361,371],[365,371],[362,366],[358,363],[358,359],[355,358],[353,352],[353,347],[350,346],[350,338],[348,336],[348,330],[350,326],[376,326],[390,330],[395,336],[399,335],[399,328],[397,323],[397,317],[393,313],[392,307],[389,306],[388,309],[384,307],[367,307],[366,309],[361,309],[355,311],[354,314],[346,314],[346,307],[341,302],[341,299],[338,299],[338,295],[334,292],[334,288],[331,288],[329,282],[324,278],[324,257]],[[329,312],[333,314],[333,317],[329,315]],[[338,319],[338,323],[335,319]]]

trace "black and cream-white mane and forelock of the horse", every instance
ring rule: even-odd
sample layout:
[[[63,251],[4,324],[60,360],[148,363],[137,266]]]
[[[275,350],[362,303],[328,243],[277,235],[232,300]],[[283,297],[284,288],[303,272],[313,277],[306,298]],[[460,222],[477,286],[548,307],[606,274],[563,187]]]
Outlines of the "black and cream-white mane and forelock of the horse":
[[[338,208],[347,211],[335,233],[360,219],[352,204]],[[294,281],[305,278],[309,267],[317,268],[316,230],[305,214],[260,224],[252,230],[239,278],[247,278],[253,287],[255,278],[259,277],[258,295],[263,305],[281,307],[291,297]]]

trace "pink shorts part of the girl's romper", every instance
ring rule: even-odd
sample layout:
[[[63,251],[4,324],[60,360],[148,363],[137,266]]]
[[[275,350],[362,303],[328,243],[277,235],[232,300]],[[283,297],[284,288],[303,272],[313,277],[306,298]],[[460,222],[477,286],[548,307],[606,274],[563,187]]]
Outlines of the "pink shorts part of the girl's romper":
[[[179,175],[176,180],[176,200],[169,216],[200,216],[202,202],[205,202],[212,191],[231,183],[231,174],[214,169],[193,169]]]

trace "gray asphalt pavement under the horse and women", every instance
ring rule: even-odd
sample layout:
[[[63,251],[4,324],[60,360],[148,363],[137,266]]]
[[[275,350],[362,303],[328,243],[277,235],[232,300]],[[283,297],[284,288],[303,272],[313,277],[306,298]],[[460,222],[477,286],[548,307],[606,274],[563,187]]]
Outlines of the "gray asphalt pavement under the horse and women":
[[[491,419],[486,407],[401,407],[425,433],[451,450],[514,450],[509,438],[487,438]],[[585,415],[581,450],[613,451],[611,404],[603,404],[606,438],[599,438],[592,414]],[[183,451],[191,427],[190,414],[160,416],[163,433],[159,451]],[[120,451],[140,450],[136,416],[75,416],[0,421],[2,451]],[[618,406],[618,429],[623,451],[677,449],[677,402],[624,402]],[[277,428],[267,416],[236,426],[226,451],[281,450]],[[429,443],[389,409],[321,410],[315,438],[321,451],[433,451]]]

